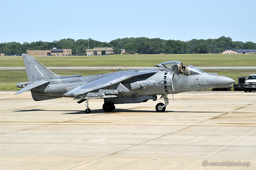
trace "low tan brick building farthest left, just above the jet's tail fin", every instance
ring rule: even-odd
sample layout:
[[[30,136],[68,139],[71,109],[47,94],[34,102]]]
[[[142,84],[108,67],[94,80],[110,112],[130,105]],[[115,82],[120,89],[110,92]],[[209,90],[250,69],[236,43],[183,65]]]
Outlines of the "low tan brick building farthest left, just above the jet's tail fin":
[[[71,49],[50,49],[50,50],[27,50],[28,55],[32,56],[66,56],[66,55],[72,55]]]

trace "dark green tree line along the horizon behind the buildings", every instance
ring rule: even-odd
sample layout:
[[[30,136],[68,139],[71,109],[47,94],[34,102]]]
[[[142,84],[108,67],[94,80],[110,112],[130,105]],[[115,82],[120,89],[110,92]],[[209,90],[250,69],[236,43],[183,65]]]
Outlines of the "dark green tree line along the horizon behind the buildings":
[[[89,45],[89,46],[88,46]],[[49,50],[72,49],[74,55],[85,55],[86,49],[94,47],[112,47],[115,54],[120,54],[121,49],[125,49],[126,54],[206,54],[221,53],[225,49],[256,49],[256,43],[247,41],[232,41],[230,37],[222,36],[217,39],[180,41],[163,40],[160,38],[122,38],[110,42],[100,42],[89,39],[61,39],[52,42],[2,42],[0,44],[0,53],[5,55],[20,55],[26,53],[26,50]],[[77,54],[76,54],[77,51]]]

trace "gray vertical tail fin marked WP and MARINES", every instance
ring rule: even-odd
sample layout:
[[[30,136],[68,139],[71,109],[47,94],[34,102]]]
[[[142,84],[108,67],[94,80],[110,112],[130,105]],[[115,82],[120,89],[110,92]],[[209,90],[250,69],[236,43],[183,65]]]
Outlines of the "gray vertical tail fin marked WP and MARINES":
[[[34,57],[27,54],[22,54],[22,57],[27,72],[28,81],[49,80],[61,77],[60,75],[55,74],[49,69],[47,69]]]

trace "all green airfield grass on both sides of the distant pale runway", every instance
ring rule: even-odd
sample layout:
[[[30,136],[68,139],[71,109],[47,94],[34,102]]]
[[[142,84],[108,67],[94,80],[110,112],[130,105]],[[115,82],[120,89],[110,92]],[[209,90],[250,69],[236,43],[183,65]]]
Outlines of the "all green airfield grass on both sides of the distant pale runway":
[[[36,56],[46,67],[93,66],[154,66],[165,61],[177,60],[184,65],[199,66],[256,66],[256,55],[184,54],[184,55],[104,55],[104,56]],[[24,67],[21,56],[1,56],[0,67]],[[114,70],[53,70],[59,75],[83,76],[113,72]],[[117,70],[116,70],[117,71]],[[225,75],[237,81],[238,76],[255,74],[256,70],[205,70]],[[25,70],[0,70],[0,90],[20,90],[15,85],[27,82]]]

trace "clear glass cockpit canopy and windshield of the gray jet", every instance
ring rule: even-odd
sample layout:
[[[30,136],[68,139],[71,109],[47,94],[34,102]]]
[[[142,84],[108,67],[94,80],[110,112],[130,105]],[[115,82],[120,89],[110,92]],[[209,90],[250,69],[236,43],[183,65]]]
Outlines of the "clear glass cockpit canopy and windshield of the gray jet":
[[[154,67],[164,68],[166,70],[172,70],[176,73],[181,72],[182,62],[180,61],[168,61],[161,64],[157,64]],[[204,71],[197,69],[196,67],[189,65],[188,66],[188,75],[195,75],[195,74],[203,74]]]

